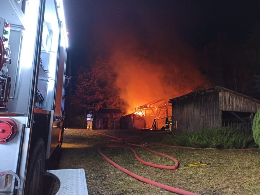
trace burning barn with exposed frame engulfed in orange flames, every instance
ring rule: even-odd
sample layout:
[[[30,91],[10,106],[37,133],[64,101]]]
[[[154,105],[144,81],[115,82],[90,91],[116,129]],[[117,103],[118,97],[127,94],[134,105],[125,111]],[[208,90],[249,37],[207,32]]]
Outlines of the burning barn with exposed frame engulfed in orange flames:
[[[161,129],[165,126],[165,117],[172,116],[172,104],[168,100],[164,98],[149,102],[135,108],[132,114],[122,116],[121,129]]]

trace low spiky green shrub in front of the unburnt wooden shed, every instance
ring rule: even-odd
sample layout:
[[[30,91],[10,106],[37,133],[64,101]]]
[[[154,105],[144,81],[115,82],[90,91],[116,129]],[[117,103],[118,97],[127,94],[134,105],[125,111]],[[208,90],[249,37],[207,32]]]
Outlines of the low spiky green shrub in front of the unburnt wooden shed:
[[[231,127],[205,128],[198,132],[177,134],[172,144],[197,148],[250,148],[256,147],[253,136],[245,137]]]

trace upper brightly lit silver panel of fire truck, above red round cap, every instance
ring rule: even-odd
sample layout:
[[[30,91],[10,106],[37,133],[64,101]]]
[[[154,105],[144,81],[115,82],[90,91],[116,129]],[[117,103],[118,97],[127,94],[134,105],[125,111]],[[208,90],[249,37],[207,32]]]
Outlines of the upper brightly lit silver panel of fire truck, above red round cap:
[[[2,6],[2,3],[8,5],[5,7]],[[22,16],[22,14],[17,11],[19,10],[17,1],[7,0],[2,3],[0,17],[5,19],[6,22],[9,22],[11,26],[9,45],[11,48],[10,58],[12,59],[12,63],[11,65],[4,65],[8,69],[8,75],[11,77],[11,90],[9,101],[6,102],[6,107],[9,109],[8,112],[27,114],[31,103],[30,89],[32,86],[32,67],[35,53],[35,37],[37,33],[35,26],[38,25],[38,17],[35,16],[38,16],[39,12],[39,10],[35,8],[39,7],[39,1],[34,1],[31,3],[31,6],[27,7],[28,14],[25,16]],[[30,23],[26,23],[25,21],[28,21],[29,18]],[[21,24],[23,26],[18,26]],[[24,28],[26,28],[26,31],[23,30]],[[24,44],[21,44],[22,40]]]

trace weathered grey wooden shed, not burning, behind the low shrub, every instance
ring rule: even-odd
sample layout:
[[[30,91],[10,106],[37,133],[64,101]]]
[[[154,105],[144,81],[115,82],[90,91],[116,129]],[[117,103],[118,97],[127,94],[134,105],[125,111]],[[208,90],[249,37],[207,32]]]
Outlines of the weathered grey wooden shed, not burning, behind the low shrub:
[[[196,90],[169,102],[177,133],[231,126],[250,135],[254,115],[260,109],[260,101],[219,86]]]

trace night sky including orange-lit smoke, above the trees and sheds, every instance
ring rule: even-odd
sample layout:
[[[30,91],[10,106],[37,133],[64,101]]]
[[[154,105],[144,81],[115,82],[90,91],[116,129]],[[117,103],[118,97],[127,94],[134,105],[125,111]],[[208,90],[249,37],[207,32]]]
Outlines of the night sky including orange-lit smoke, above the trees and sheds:
[[[88,70],[91,65],[98,67],[95,61],[102,56],[102,63],[113,66],[117,75],[115,85],[128,105],[128,112],[147,102],[177,97],[197,87],[220,85],[236,90],[233,78],[237,70],[240,75],[235,76],[240,77],[235,77],[235,81],[240,82],[240,88],[236,91],[255,94],[252,84],[242,83],[253,78],[251,73],[244,73],[247,62],[242,60],[246,59],[237,57],[237,62],[242,63],[233,63],[235,68],[228,61],[230,52],[226,52],[228,58],[217,67],[218,59],[208,58],[204,51],[209,51],[205,48],[220,35],[225,36],[227,45],[232,45],[232,51],[237,45],[245,45],[243,42],[249,39],[252,29],[259,26],[259,0],[67,0],[64,3],[70,32],[72,71],[69,74],[77,76],[79,66]],[[245,55],[247,51],[241,52]]]

